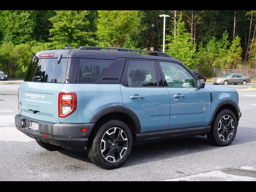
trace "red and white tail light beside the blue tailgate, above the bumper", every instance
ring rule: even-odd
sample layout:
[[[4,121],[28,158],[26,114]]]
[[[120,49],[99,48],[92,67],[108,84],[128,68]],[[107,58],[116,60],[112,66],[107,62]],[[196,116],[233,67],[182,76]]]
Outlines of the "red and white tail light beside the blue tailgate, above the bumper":
[[[59,117],[63,118],[74,112],[76,110],[76,103],[76,93],[59,93]]]

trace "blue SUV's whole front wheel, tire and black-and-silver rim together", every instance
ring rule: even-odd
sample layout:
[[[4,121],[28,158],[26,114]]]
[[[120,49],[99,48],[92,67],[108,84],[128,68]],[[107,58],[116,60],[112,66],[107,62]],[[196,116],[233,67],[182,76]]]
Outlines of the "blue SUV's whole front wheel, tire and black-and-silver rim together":
[[[237,121],[234,113],[224,109],[214,118],[211,131],[207,138],[213,145],[228,146],[236,136]]]

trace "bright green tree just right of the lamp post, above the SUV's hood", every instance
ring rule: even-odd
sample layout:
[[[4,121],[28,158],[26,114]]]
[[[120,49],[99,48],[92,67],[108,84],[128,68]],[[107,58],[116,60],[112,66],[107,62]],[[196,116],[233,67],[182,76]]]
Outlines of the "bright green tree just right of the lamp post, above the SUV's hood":
[[[166,44],[166,52],[193,70],[196,66],[196,46],[192,43],[190,33],[186,32],[184,22],[177,22],[176,36],[166,36],[166,42],[169,42]]]

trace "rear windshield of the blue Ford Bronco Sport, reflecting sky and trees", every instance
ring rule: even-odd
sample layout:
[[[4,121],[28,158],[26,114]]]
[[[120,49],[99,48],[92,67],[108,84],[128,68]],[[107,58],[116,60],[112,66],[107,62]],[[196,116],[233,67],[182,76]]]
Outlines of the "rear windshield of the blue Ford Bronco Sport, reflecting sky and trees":
[[[57,58],[37,59],[28,68],[25,81],[65,83],[68,59],[62,58],[57,63]]]

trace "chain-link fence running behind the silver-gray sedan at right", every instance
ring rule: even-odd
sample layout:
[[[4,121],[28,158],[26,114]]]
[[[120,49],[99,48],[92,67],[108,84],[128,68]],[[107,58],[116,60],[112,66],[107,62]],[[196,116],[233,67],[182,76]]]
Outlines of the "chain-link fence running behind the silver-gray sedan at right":
[[[217,68],[204,68],[196,66],[194,71],[199,72],[202,76],[206,77],[221,77],[227,73],[239,73],[252,79],[256,78],[256,69],[217,69]]]

